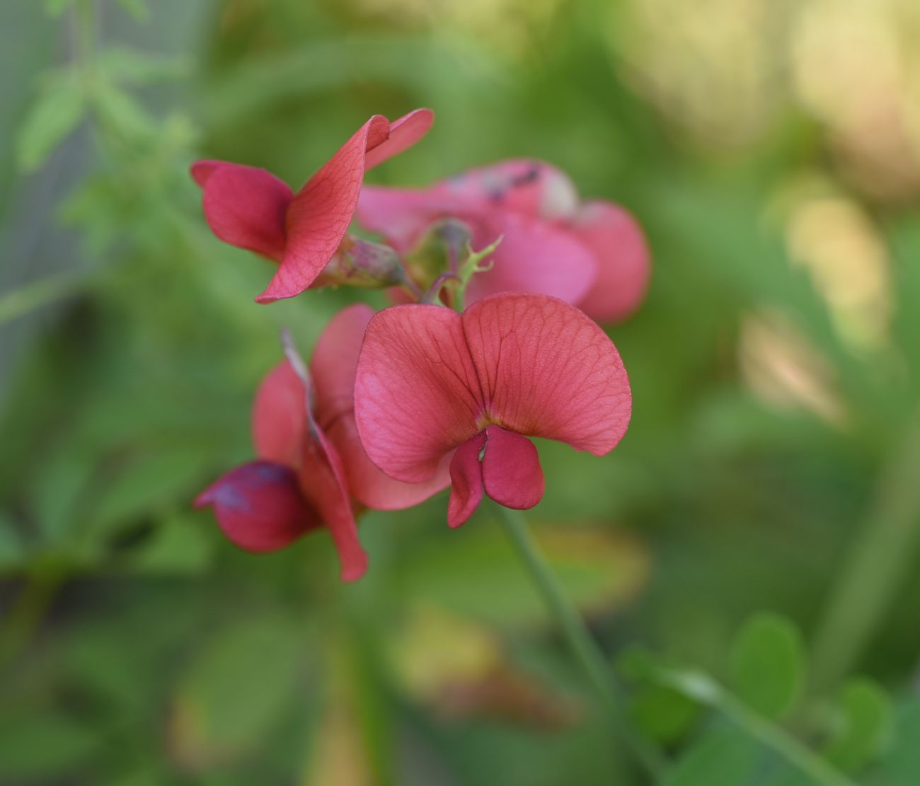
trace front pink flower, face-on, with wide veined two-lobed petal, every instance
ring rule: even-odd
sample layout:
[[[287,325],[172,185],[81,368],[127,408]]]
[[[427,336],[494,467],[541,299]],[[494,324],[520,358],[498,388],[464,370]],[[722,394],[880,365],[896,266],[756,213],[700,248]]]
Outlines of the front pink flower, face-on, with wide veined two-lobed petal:
[[[355,381],[364,450],[405,483],[450,461],[447,520],[483,492],[533,507],[544,478],[527,437],[604,455],[626,433],[631,395],[613,343],[585,314],[546,295],[500,294],[463,314],[397,305],[367,327]]]

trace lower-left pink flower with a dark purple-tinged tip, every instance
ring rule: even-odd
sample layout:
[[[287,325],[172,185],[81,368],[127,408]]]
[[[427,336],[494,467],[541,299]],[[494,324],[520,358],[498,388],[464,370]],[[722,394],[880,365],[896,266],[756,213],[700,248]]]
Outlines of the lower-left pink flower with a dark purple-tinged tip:
[[[353,389],[366,305],[340,312],[316,343],[310,369],[289,350],[259,386],[252,431],[258,461],[243,464],[201,492],[224,534],[250,552],[272,552],[324,523],[345,581],[360,578],[367,555],[355,507],[411,507],[448,484],[446,465],[423,483],[387,477],[368,459],[354,422]]]

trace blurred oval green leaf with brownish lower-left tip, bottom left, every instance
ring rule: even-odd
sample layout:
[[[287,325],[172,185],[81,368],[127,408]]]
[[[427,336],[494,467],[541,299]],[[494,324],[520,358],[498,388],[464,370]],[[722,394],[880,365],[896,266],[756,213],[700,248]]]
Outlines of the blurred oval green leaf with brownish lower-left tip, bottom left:
[[[259,748],[303,691],[302,623],[240,617],[194,655],[181,678],[169,726],[178,758],[192,769]]]

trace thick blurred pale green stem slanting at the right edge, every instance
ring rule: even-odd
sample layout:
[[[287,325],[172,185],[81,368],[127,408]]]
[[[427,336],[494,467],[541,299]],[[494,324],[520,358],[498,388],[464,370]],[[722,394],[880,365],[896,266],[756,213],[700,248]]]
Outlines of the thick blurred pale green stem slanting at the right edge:
[[[883,467],[875,503],[840,572],[814,639],[812,689],[822,692],[857,663],[903,585],[920,538],[920,414]]]

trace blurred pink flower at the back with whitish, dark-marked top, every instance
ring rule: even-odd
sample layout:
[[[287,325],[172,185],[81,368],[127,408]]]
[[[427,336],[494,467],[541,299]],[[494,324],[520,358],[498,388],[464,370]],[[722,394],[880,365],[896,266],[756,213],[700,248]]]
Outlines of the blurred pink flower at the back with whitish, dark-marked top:
[[[431,188],[366,186],[356,215],[401,253],[446,216],[470,225],[474,248],[503,236],[495,267],[474,277],[467,302],[551,294],[610,322],[635,311],[648,287],[649,248],[636,220],[613,202],[580,202],[569,177],[540,161],[504,161]]]

